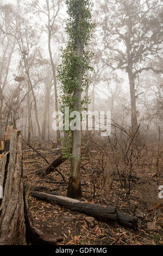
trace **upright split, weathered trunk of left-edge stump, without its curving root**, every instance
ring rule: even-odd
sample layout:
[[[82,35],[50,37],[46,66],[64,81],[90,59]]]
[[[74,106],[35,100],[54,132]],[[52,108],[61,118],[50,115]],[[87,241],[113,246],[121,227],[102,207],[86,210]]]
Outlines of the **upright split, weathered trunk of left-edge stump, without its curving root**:
[[[12,129],[10,153],[4,154],[1,160],[0,184],[4,196],[0,206],[0,245],[26,245],[21,160],[22,135]]]

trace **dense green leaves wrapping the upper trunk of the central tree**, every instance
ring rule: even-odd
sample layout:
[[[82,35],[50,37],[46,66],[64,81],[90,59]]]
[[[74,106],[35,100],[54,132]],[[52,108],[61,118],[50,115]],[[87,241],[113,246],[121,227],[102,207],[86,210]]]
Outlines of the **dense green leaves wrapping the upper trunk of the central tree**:
[[[74,90],[78,87],[77,79],[77,66],[82,67],[82,89],[89,87],[89,81],[86,78],[86,72],[93,70],[90,66],[92,52],[87,50],[87,46],[90,44],[92,38],[92,29],[95,24],[92,23],[91,8],[92,3],[89,0],[65,0],[67,5],[67,14],[69,15],[68,23],[66,26],[66,32],[69,36],[69,40],[65,49],[62,50],[62,63],[58,66],[58,78],[60,82],[61,106],[60,111],[64,113],[64,108],[68,106],[70,112],[73,111],[73,103],[76,99],[74,96]],[[77,52],[78,42],[82,42],[84,46],[84,52],[82,56],[79,56]],[[82,100],[82,105],[87,103],[89,99]],[[68,137],[71,139],[70,131]],[[67,143],[68,145],[68,143]],[[68,146],[67,146],[68,148]]]

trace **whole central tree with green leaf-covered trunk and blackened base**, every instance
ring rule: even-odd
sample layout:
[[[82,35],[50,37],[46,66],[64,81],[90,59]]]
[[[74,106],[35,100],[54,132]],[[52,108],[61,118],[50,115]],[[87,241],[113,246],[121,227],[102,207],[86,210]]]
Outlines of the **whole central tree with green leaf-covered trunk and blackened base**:
[[[93,28],[90,8],[91,1],[66,0],[67,13],[69,15],[66,32],[69,36],[67,47],[62,52],[62,63],[58,74],[62,90],[61,111],[67,106],[71,111],[81,112],[84,100],[81,94],[84,88],[89,86],[86,79],[87,70],[90,68],[92,53],[87,51]],[[81,129],[76,127],[72,132],[68,131],[71,139],[72,152],[70,180],[67,196],[78,198],[82,196],[80,185],[80,161],[81,161]]]

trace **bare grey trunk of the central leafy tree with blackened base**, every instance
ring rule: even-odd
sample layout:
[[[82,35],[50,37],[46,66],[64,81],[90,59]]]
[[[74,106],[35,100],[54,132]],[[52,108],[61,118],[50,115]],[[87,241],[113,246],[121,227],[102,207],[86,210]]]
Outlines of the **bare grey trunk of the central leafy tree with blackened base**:
[[[83,0],[79,3],[81,8],[83,5]],[[82,14],[79,11],[79,22],[82,20]],[[82,60],[84,45],[81,40],[78,40],[77,46],[78,57]],[[81,89],[82,89],[82,72],[83,67],[78,64],[76,68],[78,87],[74,90],[74,96],[77,100],[74,100],[73,110],[79,111],[81,108]],[[80,160],[81,160],[81,129],[72,131],[72,159],[71,159],[71,170],[70,170],[70,180],[67,190],[67,196],[71,198],[82,197],[82,190],[80,184]]]

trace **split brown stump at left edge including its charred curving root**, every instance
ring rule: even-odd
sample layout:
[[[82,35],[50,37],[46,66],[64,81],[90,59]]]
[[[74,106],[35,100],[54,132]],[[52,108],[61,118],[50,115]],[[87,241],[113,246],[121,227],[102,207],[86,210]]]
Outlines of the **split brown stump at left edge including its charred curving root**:
[[[55,245],[61,236],[49,236],[34,227],[23,188],[22,134],[10,129],[10,147],[0,161],[0,245]]]

